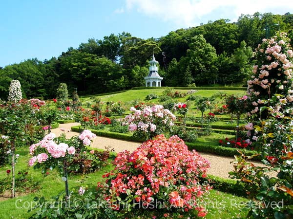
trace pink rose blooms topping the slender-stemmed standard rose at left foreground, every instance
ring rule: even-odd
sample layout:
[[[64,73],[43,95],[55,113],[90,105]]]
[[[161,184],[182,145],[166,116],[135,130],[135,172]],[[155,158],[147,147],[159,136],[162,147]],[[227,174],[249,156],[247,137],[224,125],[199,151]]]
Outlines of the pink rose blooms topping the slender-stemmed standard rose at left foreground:
[[[47,161],[49,158],[48,154],[51,155],[53,158],[60,158],[65,157],[66,152],[70,155],[75,154],[75,148],[73,146],[68,146],[65,143],[59,143],[56,144],[53,140],[56,138],[56,135],[54,133],[50,133],[46,135],[42,141],[40,141],[37,144],[33,144],[29,147],[29,151],[31,155],[35,154],[35,150],[37,148],[44,148],[46,153],[40,153],[34,157],[32,157],[28,164],[29,166],[32,166],[36,161],[38,163],[42,163]]]

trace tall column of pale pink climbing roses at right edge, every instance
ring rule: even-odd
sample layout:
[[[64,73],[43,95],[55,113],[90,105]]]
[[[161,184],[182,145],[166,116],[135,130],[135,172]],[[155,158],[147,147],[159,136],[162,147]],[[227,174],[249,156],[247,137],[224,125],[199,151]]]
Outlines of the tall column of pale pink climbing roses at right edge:
[[[258,62],[253,66],[253,74],[248,81],[248,94],[253,106],[259,106],[252,109],[249,115],[259,113],[265,103],[260,99],[272,99],[275,93],[281,94],[283,99],[276,101],[273,109],[285,104],[289,107],[288,103],[293,102],[293,51],[288,42],[286,33],[280,33],[271,39],[264,39],[255,49]]]

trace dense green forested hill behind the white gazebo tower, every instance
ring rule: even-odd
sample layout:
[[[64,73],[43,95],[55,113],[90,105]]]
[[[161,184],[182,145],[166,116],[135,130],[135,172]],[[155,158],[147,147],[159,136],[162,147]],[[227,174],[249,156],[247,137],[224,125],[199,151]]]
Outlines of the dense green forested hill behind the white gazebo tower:
[[[0,98],[7,98],[12,79],[21,82],[26,97],[42,98],[55,97],[60,82],[67,84],[69,92],[77,88],[79,94],[144,86],[153,52],[164,77],[162,86],[245,84],[253,64],[252,51],[266,34],[272,37],[279,29],[293,40],[293,14],[255,13],[242,15],[234,23],[219,19],[158,39],[129,33],[90,38],[58,58],[33,58],[0,67]]]

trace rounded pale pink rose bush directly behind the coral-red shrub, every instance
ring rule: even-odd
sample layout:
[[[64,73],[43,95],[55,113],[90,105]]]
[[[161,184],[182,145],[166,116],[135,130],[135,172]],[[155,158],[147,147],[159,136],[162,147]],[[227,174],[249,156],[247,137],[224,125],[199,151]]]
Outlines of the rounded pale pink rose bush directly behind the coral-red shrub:
[[[176,116],[162,105],[144,106],[142,110],[131,107],[130,111],[123,125],[128,125],[128,129],[135,131],[136,136],[145,139],[170,131],[176,119]]]

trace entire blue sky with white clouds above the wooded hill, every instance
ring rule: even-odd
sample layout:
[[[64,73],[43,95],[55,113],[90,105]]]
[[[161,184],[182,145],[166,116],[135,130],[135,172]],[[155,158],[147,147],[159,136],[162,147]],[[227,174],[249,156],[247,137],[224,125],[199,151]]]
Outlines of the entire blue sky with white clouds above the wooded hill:
[[[277,4],[276,4],[277,2]],[[241,14],[293,13],[291,0],[0,0],[0,66],[58,57],[88,38],[123,31],[162,37]]]

